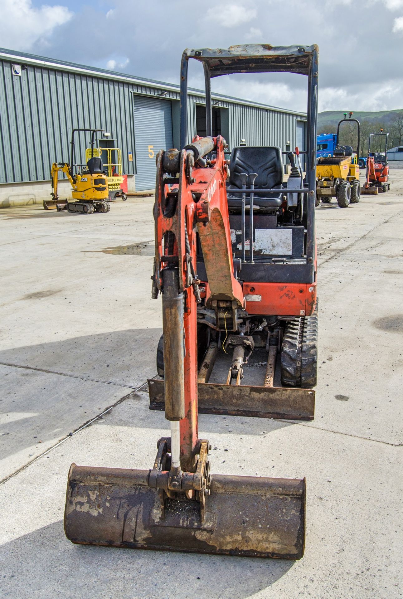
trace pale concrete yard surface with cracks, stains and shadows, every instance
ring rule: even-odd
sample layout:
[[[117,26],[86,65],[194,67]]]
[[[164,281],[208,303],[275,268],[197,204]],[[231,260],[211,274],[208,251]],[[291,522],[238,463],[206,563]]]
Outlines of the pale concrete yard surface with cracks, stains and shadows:
[[[213,473],[307,477],[298,562],[66,540],[71,462],[148,469],[167,432],[144,387],[161,330],[153,200],[82,217],[0,212],[1,597],[402,596],[403,170],[390,180],[388,193],[316,210],[315,420],[199,418]]]

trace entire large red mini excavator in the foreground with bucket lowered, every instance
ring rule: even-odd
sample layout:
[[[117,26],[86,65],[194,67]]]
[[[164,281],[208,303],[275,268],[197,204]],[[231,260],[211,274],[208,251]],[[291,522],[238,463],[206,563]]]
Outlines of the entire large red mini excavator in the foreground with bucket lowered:
[[[204,68],[207,122],[190,144],[189,59]],[[307,75],[305,179],[294,153],[284,183],[279,147],[235,147],[228,161],[213,137],[211,77],[245,72]],[[184,52],[180,149],[157,155],[151,277],[163,380],[149,381],[150,407],[165,409],[171,434],[150,470],[72,464],[64,524],[74,543],[302,557],[305,479],[211,474],[198,411],[313,419],[317,81],[317,46]]]

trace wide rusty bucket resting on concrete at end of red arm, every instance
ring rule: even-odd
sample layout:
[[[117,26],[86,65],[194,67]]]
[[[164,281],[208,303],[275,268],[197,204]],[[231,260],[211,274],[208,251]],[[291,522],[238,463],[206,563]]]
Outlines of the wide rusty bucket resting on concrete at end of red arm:
[[[81,467],[69,471],[64,526],[73,543],[131,549],[300,559],[305,479],[212,477],[199,503],[166,499],[162,511],[148,470]]]

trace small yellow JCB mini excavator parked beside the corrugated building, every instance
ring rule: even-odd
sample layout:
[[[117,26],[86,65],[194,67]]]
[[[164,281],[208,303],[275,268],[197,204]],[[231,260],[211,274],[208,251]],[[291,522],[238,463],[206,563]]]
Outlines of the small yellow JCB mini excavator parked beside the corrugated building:
[[[74,136],[80,131],[91,132],[92,157],[86,165],[74,164]],[[93,212],[108,212],[110,205],[107,202],[108,184],[104,173],[104,165],[101,158],[94,156],[95,133],[104,129],[73,129],[71,134],[71,162],[53,162],[51,165],[52,199],[44,200],[43,207],[46,210],[57,208],[57,211],[67,210],[73,213],[92,214]],[[75,172],[77,171],[77,172]],[[64,173],[72,187],[73,201],[60,199],[57,193],[59,173]]]

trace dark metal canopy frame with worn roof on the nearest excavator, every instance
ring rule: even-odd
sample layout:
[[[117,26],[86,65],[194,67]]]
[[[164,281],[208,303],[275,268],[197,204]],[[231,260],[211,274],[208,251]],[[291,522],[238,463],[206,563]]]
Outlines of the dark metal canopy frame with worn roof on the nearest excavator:
[[[180,149],[187,143],[187,68],[189,59],[202,63],[205,81],[206,102],[206,135],[213,137],[213,120],[211,107],[211,78],[220,75],[231,75],[244,72],[290,72],[308,77],[307,103],[307,189],[308,222],[311,226],[307,232],[307,262],[315,259],[314,222],[316,195],[316,130],[318,101],[319,49],[313,46],[269,46],[269,44],[244,44],[231,46],[228,49],[185,50],[181,60],[180,72]],[[239,190],[245,193],[248,190]],[[287,189],[281,190],[287,193]],[[278,189],[259,189],[261,192],[278,192]],[[238,193],[231,190],[231,193]]]

